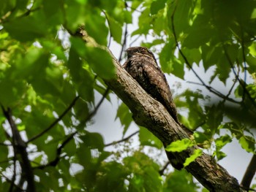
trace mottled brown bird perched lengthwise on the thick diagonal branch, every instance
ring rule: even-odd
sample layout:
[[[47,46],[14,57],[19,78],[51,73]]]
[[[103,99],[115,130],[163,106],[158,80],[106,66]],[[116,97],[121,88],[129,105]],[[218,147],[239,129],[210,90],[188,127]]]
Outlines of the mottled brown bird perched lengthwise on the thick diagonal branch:
[[[155,100],[159,101],[188,136],[192,131],[178,120],[178,112],[170,86],[167,83],[165,74],[157,64],[154,54],[146,47],[129,47],[127,50],[127,61],[124,69],[135,79],[140,86]],[[163,143],[166,147],[169,144]],[[167,152],[167,157],[174,168],[180,170],[184,166],[176,158],[176,153]]]

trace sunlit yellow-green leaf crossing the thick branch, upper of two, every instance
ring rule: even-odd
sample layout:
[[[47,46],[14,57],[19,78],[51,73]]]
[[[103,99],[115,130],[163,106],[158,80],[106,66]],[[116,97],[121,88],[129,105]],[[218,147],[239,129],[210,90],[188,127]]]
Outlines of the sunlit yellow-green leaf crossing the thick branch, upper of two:
[[[190,139],[184,138],[182,140],[172,142],[170,145],[167,145],[167,147],[165,147],[165,150],[170,152],[181,152],[183,150],[187,150],[188,147],[192,147],[193,145],[194,144]]]

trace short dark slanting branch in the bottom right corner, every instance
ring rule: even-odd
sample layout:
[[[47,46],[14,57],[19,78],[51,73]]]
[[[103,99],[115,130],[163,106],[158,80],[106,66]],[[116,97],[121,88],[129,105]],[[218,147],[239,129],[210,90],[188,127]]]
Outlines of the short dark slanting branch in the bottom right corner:
[[[241,181],[241,186],[246,190],[249,190],[249,186],[252,183],[252,178],[255,176],[256,172],[256,154],[252,156],[252,159],[244,173],[243,180]]]

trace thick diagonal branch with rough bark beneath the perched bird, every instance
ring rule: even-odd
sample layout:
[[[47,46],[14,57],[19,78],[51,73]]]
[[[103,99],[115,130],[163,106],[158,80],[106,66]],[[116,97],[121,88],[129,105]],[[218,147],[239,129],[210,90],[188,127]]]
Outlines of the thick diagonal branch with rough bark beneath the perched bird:
[[[113,56],[113,55],[112,55]],[[188,138],[186,132],[171,118],[165,107],[154,100],[144,91],[138,82],[118,64],[113,57],[116,66],[116,78],[105,80],[105,83],[116,95],[124,101],[133,114],[135,123],[148,128],[163,143],[174,142],[178,139]],[[197,147],[190,147],[181,153],[173,153],[183,163]],[[238,180],[210,156],[203,153],[194,162],[185,167],[203,186],[209,191],[244,191],[238,184]]]

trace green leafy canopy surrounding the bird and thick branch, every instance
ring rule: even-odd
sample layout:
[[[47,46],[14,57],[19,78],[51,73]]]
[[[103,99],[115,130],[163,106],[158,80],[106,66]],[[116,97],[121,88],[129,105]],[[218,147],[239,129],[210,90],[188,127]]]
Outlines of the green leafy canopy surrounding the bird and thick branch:
[[[138,28],[130,27],[135,18]],[[78,37],[81,25],[102,47]],[[220,160],[233,139],[255,153],[255,26],[254,0],[1,1],[0,188],[28,186],[18,177],[26,172],[15,147],[17,128],[37,191],[200,191],[185,171],[159,174],[162,164],[143,147],[159,153],[162,144],[146,128],[139,128],[138,150],[120,142],[118,152],[105,149],[101,134],[86,130],[98,107],[94,95],[110,101],[102,79],[113,78],[115,69],[103,47],[148,39],[141,45],[159,55],[164,72],[182,80],[193,73],[189,81],[197,91],[176,95],[176,105],[187,111],[181,120],[196,130],[196,142]],[[132,123],[125,104],[116,118],[125,134]],[[178,151],[190,144],[172,145]],[[73,166],[79,171],[71,172]]]

